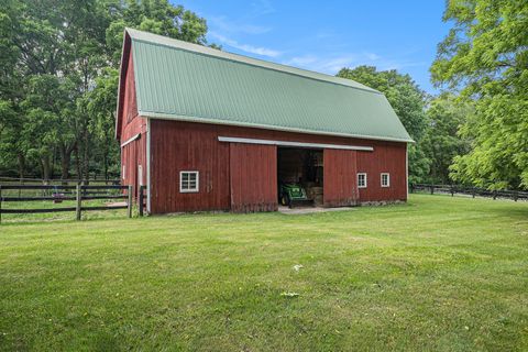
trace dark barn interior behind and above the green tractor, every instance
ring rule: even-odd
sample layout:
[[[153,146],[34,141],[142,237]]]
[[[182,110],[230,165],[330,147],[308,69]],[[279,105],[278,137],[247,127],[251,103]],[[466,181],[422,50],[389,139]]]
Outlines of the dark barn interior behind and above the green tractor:
[[[322,150],[278,147],[278,196],[280,196],[280,185],[295,184],[301,186],[306,190],[307,198],[312,205],[322,206]]]

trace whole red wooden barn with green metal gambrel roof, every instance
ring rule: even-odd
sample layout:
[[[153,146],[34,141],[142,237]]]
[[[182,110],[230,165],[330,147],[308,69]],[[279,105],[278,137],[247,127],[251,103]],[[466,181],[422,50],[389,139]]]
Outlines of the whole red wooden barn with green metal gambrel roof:
[[[349,79],[128,29],[116,131],[151,213],[276,210],[283,183],[324,207],[407,199],[411,139]]]

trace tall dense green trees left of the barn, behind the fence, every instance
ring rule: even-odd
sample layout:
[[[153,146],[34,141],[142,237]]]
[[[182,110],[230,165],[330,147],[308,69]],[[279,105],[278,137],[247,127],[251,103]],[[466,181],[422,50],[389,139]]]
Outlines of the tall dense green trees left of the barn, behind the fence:
[[[167,0],[0,0],[0,170],[45,178],[117,170],[125,26],[206,44],[206,21]],[[16,161],[16,162],[13,162]]]

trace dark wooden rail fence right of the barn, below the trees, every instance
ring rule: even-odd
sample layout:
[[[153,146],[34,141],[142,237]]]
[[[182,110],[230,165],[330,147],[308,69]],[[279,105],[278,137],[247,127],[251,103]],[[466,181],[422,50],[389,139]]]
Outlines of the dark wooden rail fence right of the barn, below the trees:
[[[431,195],[435,193],[437,194],[450,194],[451,196],[454,195],[466,195],[472,196],[475,198],[479,197],[486,197],[486,198],[503,198],[503,199],[513,199],[515,201],[528,200],[528,191],[522,190],[488,190],[485,188],[476,188],[476,187],[465,187],[460,185],[424,185],[424,184],[410,184],[409,191],[427,191]]]

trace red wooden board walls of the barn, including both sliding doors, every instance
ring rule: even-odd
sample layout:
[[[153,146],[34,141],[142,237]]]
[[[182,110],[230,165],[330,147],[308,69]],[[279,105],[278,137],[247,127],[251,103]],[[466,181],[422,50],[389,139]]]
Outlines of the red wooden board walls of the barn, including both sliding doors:
[[[220,142],[219,136],[372,146],[372,152],[333,148],[323,151],[324,205],[331,207],[407,199],[407,144],[404,142],[162,119],[151,119],[147,132],[148,120],[138,112],[130,36],[127,34],[124,40],[125,59],[121,66],[121,77],[125,79],[120,81],[117,121],[117,138],[121,144],[129,142],[121,147],[121,163],[125,168],[122,175],[123,185],[133,185],[138,190],[141,178],[143,184],[150,187],[152,213],[276,209],[277,147],[226,143]],[[179,191],[182,170],[199,172],[198,193]],[[367,174],[366,188],[358,189],[358,173]],[[389,173],[389,187],[382,187],[382,173]]]

